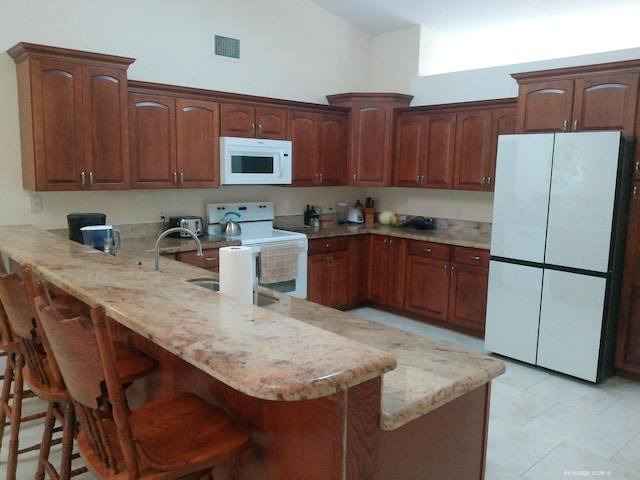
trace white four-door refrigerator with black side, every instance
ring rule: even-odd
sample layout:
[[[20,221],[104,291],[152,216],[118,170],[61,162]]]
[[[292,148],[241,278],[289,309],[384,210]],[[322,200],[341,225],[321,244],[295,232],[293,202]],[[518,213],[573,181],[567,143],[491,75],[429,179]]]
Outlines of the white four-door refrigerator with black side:
[[[613,374],[633,149],[620,132],[499,137],[487,350]]]

